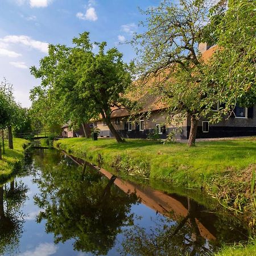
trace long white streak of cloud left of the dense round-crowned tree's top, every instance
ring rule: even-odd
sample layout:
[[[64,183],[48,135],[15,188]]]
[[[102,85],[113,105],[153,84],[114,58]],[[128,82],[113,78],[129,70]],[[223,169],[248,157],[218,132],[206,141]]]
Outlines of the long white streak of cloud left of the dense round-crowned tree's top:
[[[41,52],[48,53],[48,43],[36,41],[30,36],[16,36],[16,35],[9,35],[5,36],[4,38],[0,39],[0,43],[14,43],[14,44],[23,44],[24,46],[28,46],[34,49],[38,49]]]

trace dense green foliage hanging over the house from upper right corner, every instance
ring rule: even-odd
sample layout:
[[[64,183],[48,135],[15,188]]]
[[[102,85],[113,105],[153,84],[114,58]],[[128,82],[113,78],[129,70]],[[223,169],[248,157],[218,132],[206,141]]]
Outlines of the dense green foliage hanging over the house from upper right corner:
[[[213,116],[217,121],[236,105],[256,104],[256,15],[255,2],[228,1],[228,6],[216,5],[210,11],[210,22],[204,28],[205,42],[216,43],[218,50],[205,66],[203,81],[214,86],[208,92],[225,107]],[[209,106],[209,98],[204,105]],[[206,114],[209,108],[205,109]]]

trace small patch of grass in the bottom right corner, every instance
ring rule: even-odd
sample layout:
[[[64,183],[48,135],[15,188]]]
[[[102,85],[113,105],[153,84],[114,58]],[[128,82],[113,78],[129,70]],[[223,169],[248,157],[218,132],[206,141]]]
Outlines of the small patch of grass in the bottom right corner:
[[[256,241],[249,243],[247,246],[242,244],[225,246],[215,256],[256,256]]]

